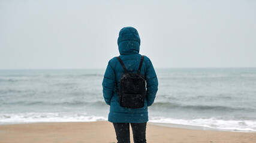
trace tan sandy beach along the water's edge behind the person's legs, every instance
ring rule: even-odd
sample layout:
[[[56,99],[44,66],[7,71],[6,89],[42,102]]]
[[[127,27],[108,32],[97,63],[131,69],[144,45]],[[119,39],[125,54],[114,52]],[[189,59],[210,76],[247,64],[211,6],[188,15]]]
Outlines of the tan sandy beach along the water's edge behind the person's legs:
[[[256,133],[170,128],[147,124],[147,142],[253,143]],[[116,141],[110,122],[28,123],[1,125],[0,142],[108,142]],[[131,135],[131,142],[132,135]]]

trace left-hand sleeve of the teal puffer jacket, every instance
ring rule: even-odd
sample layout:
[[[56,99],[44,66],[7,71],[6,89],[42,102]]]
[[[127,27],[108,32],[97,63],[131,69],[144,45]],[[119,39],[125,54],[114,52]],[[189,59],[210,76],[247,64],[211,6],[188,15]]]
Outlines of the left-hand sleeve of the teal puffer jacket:
[[[105,102],[110,105],[111,98],[113,97],[116,86],[116,75],[113,68],[110,66],[110,62],[107,65],[107,69],[103,79],[103,97]]]

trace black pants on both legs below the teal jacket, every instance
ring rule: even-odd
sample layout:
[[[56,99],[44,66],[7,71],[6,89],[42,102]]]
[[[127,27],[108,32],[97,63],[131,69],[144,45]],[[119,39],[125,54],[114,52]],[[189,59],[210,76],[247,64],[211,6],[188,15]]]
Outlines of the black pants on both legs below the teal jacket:
[[[116,130],[116,139],[118,143],[130,143],[129,141],[130,123],[113,123]],[[131,123],[134,143],[146,143],[146,123]]]

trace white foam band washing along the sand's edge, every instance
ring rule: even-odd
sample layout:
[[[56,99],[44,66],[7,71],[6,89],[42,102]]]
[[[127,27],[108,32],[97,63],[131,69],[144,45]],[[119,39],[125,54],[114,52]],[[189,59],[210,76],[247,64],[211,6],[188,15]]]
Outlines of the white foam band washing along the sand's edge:
[[[94,116],[87,113],[0,113],[0,124],[34,122],[95,122],[106,120],[106,116]],[[214,118],[185,120],[166,117],[151,117],[149,122],[201,126],[212,129],[242,132],[256,132],[256,121],[254,120],[220,120]]]

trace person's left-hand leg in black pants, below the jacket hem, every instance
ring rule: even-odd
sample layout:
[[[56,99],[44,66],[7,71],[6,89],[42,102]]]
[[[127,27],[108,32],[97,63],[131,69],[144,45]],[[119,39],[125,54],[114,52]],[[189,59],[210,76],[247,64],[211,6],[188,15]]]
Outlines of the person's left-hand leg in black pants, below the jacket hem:
[[[116,131],[118,143],[130,143],[129,141],[129,123],[113,123]]]

